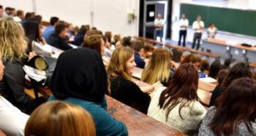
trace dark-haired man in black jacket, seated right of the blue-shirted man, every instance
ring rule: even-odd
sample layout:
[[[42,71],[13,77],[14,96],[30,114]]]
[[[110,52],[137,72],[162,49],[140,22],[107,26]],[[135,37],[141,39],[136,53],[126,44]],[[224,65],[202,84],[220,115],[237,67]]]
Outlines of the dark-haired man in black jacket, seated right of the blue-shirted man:
[[[73,49],[64,39],[65,36],[66,26],[63,23],[59,23],[55,26],[55,33],[50,35],[47,43],[62,50]]]

